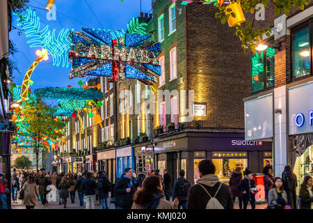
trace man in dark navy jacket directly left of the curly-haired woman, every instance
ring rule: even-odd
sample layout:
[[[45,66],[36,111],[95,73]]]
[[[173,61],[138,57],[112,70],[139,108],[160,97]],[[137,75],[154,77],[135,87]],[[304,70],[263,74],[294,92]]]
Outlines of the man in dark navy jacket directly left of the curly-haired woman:
[[[117,209],[131,208],[137,187],[138,182],[133,178],[133,170],[130,167],[125,168],[125,174],[116,181],[114,187]]]

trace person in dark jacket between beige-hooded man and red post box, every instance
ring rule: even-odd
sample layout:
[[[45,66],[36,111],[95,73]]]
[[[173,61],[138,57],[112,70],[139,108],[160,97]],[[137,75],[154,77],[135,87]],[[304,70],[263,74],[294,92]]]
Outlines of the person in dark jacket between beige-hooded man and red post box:
[[[255,185],[255,180],[252,178],[252,172],[246,168],[243,171],[244,178],[240,180],[238,185],[239,190],[242,192],[243,209],[247,209],[248,202],[251,204],[251,208],[255,209],[255,193],[257,191],[257,185]]]

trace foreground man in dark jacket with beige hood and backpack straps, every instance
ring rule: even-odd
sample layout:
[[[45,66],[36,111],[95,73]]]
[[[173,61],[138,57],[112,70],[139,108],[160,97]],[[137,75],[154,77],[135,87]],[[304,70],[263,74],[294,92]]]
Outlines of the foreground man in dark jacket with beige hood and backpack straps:
[[[205,209],[209,199],[211,199],[209,194],[211,197],[216,195],[215,198],[225,209],[233,209],[234,202],[232,201],[232,194],[230,194],[230,187],[220,183],[218,176],[214,175],[215,167],[213,162],[211,160],[202,160],[198,164],[198,169],[200,179],[197,180],[197,184],[192,185],[189,189],[187,209]],[[209,194],[207,194],[208,192]]]

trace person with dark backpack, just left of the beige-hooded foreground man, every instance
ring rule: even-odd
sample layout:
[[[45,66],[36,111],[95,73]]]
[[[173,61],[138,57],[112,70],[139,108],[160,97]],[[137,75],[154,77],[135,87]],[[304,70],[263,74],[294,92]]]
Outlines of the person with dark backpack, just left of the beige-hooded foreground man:
[[[187,208],[187,201],[188,201],[188,190],[191,187],[189,180],[184,178],[185,171],[181,169],[179,171],[179,178],[175,180],[174,186],[172,188],[172,199],[178,199],[178,209],[182,206],[183,209]]]

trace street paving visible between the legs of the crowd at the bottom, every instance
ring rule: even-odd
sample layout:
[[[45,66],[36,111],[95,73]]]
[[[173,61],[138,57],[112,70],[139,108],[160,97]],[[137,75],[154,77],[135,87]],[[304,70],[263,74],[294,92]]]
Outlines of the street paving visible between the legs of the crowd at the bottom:
[[[111,209],[114,209],[115,206],[113,203],[110,203],[111,198],[109,197],[108,202],[109,202],[109,206]],[[12,209],[25,209],[25,206],[22,204],[21,200],[17,201],[18,203],[12,203]],[[238,203],[238,199],[236,199],[235,203],[234,203],[234,209],[239,209],[239,203]],[[255,208],[256,209],[264,209],[266,208],[267,203],[262,203],[262,204],[256,204]],[[79,206],[79,198],[78,195],[76,193],[76,197],[75,197],[75,202],[71,203],[70,198],[67,199],[67,208],[66,209],[85,209],[86,207],[80,207]],[[64,209],[63,205],[59,205],[58,201],[51,201],[48,202],[47,205],[45,205],[44,207],[42,207],[42,203],[41,201],[38,201],[37,205],[35,206],[35,209]],[[102,209],[102,206],[95,206],[95,209]],[[248,204],[248,209],[251,209],[250,203]]]

